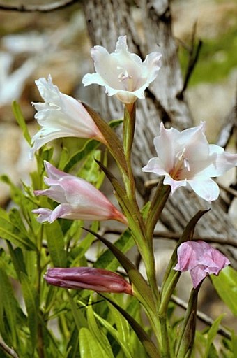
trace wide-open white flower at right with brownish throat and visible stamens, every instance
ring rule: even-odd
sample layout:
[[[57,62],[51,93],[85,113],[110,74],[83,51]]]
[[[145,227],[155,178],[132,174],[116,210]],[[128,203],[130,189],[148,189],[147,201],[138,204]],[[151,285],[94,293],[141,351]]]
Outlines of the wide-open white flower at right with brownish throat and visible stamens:
[[[198,127],[178,131],[160,124],[160,136],[154,138],[158,157],[153,157],[143,171],[165,176],[164,184],[172,194],[187,183],[208,202],[216,200],[219,187],[211,177],[224,174],[237,166],[237,155],[224,152],[218,145],[209,145],[204,134],[205,122]]]

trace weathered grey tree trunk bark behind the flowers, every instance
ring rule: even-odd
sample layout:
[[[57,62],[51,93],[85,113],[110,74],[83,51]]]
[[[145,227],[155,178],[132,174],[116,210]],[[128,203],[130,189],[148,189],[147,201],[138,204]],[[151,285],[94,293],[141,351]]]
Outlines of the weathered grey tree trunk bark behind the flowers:
[[[158,135],[160,121],[165,122],[166,127],[172,125],[185,129],[192,126],[192,115],[185,96],[178,98],[183,88],[183,78],[178,62],[178,48],[172,36],[169,1],[137,0],[136,4],[141,14],[142,26],[135,23],[129,1],[85,0],[83,6],[91,45],[102,45],[109,52],[114,52],[117,38],[126,34],[130,51],[137,53],[142,59],[150,52],[162,52],[162,69],[158,78],[146,91],[146,100],[137,101],[133,167],[138,192],[144,196],[144,182],[149,177],[148,173],[142,173],[142,166],[155,155],[153,138]],[[104,88],[99,86],[98,98],[103,118],[110,120],[122,117],[121,103],[105,95]],[[90,105],[93,106],[93,103]],[[169,199],[161,222],[170,231],[181,232],[188,220],[204,208],[206,202],[189,189],[180,188]],[[198,236],[222,238],[223,243],[228,238],[237,242],[236,229],[229,219],[227,204],[222,197],[211,205],[211,210],[197,224],[195,233]],[[237,266],[236,249],[229,245],[221,245],[220,249],[229,256],[231,263]]]

